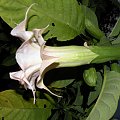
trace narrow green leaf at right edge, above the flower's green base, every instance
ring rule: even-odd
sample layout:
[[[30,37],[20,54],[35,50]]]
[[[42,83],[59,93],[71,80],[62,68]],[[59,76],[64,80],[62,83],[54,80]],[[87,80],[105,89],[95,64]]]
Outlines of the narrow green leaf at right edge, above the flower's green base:
[[[109,37],[117,36],[120,33],[120,17],[118,18],[112,32],[109,34]]]

